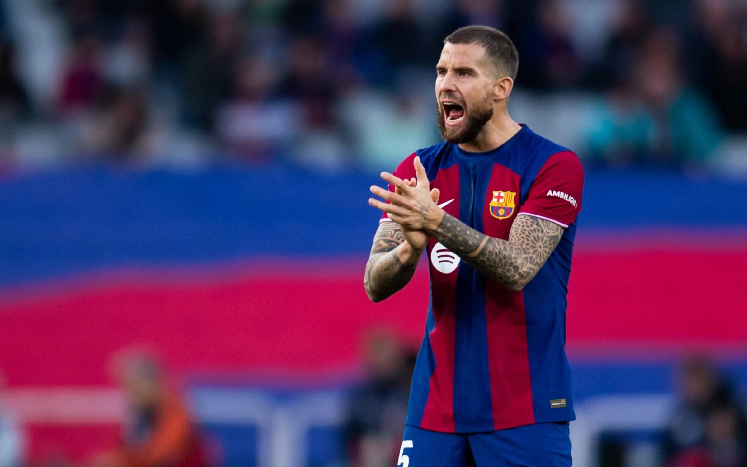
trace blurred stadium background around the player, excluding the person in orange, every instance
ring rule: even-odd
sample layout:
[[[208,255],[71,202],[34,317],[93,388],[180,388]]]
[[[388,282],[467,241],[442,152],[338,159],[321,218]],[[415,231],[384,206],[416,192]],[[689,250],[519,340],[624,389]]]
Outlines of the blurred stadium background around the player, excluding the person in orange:
[[[100,455],[133,346],[205,465],[394,466],[428,279],[368,302],[368,186],[473,23],[586,164],[574,465],[747,466],[746,1],[2,0],[0,467],[156,467]]]

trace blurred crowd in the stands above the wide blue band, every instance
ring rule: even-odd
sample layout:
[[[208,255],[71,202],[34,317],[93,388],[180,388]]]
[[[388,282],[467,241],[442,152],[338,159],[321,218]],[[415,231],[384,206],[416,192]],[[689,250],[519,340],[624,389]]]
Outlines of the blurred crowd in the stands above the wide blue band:
[[[522,93],[569,96],[555,133],[589,164],[697,166],[747,132],[740,0],[3,0],[0,161],[390,167],[437,141],[468,24],[515,40],[530,126],[554,107]]]

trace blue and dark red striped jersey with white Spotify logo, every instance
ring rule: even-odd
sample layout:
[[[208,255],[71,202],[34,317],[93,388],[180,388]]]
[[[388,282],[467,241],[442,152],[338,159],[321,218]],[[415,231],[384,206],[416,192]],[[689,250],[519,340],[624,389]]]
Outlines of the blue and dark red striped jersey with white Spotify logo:
[[[406,423],[475,433],[573,420],[565,309],[583,190],[580,161],[527,126],[489,152],[465,152],[451,143],[418,150],[394,175],[415,177],[415,155],[431,188],[441,191],[439,205],[468,226],[508,240],[515,218],[533,215],[565,232],[518,292],[430,239],[430,306]]]

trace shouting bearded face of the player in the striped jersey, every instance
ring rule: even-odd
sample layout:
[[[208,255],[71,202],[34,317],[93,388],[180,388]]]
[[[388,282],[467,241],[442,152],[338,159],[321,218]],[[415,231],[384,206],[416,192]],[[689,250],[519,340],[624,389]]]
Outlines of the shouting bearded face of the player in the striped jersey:
[[[448,143],[469,143],[493,117],[495,75],[477,44],[446,43],[436,65],[438,130]]]

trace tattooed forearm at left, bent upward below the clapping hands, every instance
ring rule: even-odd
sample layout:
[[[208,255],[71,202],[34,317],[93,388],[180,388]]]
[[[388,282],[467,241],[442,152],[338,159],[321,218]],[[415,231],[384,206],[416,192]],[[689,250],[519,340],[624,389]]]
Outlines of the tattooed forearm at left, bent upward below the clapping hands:
[[[379,224],[368,257],[363,285],[374,302],[380,302],[399,291],[412,279],[416,265],[403,265],[394,251],[404,243],[405,236],[395,222]]]

